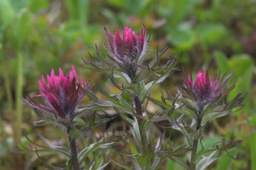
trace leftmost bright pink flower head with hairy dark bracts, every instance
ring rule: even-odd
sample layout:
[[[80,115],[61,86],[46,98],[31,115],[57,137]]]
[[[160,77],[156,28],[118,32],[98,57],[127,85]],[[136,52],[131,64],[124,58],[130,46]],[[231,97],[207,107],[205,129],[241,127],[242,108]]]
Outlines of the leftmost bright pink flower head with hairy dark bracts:
[[[76,85],[79,82],[80,85],[84,86],[85,82],[77,78],[74,65],[72,64],[72,72],[66,76],[63,75],[61,68],[59,68],[59,76],[54,75],[52,69],[51,76],[47,75],[47,81],[48,83],[45,82],[42,74],[42,81],[38,81],[41,94],[36,95],[44,99],[45,105],[35,102],[29,96],[26,102],[39,110],[56,113],[60,118],[72,116],[77,103],[85,95]],[[84,89],[87,88],[84,87]]]

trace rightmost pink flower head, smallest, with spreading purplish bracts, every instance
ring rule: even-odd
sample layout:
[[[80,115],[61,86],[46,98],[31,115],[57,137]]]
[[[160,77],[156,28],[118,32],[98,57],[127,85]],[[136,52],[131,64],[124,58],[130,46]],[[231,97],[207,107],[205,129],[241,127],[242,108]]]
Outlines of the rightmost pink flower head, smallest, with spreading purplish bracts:
[[[230,88],[226,89],[226,86],[230,84],[228,81],[232,75],[233,73],[229,74],[224,79],[224,74],[224,76],[219,81],[220,73],[217,78],[214,74],[212,74],[211,81],[208,70],[204,73],[203,69],[201,68],[196,76],[195,81],[193,82],[192,73],[190,74],[190,79],[188,79],[187,72],[183,71],[183,77],[188,91],[193,94],[198,102],[204,104],[212,102],[219,95],[222,97],[225,96],[235,87],[235,84],[233,84]]]

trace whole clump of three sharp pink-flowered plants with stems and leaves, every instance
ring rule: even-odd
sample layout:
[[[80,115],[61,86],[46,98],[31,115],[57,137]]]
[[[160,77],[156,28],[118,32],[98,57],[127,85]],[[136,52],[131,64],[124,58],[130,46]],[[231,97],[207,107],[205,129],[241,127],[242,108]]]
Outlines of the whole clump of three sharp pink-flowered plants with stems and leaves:
[[[198,141],[200,139],[201,142],[203,128],[208,122],[215,118],[225,116],[235,107],[244,106],[242,101],[247,94],[241,96],[241,93],[239,93],[231,102],[227,104],[224,104],[223,102],[221,105],[218,105],[220,102],[217,101],[223,98],[235,87],[235,84],[230,85],[232,82],[232,80],[230,81],[230,78],[233,73],[226,77],[226,74],[224,74],[223,77],[220,78],[221,72],[219,72],[218,76],[212,75],[211,79],[208,71],[204,72],[203,69],[201,69],[196,75],[196,79],[193,81],[192,72],[190,78],[188,78],[188,73],[183,70],[184,84],[180,85],[182,95],[177,95],[174,98],[166,91],[169,98],[161,96],[162,102],[159,102],[148,95],[149,90],[156,84],[165,80],[165,78],[169,77],[173,71],[178,69],[175,67],[181,59],[182,53],[180,56],[175,56],[167,61],[166,64],[159,66],[159,57],[167,51],[169,46],[162,49],[158,49],[157,47],[155,51],[145,54],[148,40],[146,40],[146,26],[144,24],[141,35],[136,35],[135,32],[127,26],[124,26],[122,36],[120,35],[120,28],[114,31],[114,36],[106,28],[104,29],[109,46],[106,46],[105,43],[104,45],[113,57],[108,56],[110,60],[104,59],[96,45],[98,59],[92,57],[90,53],[91,61],[82,59],[84,63],[89,66],[87,67],[89,69],[95,69],[101,72],[111,72],[110,80],[113,85],[121,91],[120,94],[110,95],[103,88],[98,86],[99,92],[107,98],[107,101],[104,100],[105,97],[98,98],[96,95],[97,90],[94,92],[91,91],[91,88],[89,88],[90,85],[85,85],[85,82],[77,77],[74,65],[72,65],[72,72],[68,73],[66,76],[64,76],[61,68],[59,68],[59,75],[55,75],[55,72],[52,69],[51,75],[47,75],[47,83],[42,74],[41,81],[38,81],[41,94],[36,96],[41,97],[44,100],[44,105],[35,102],[30,96],[27,96],[27,99],[23,99],[28,105],[38,109],[42,113],[49,113],[47,116],[51,116],[51,118],[48,118],[45,115],[42,117],[39,115],[43,120],[31,123],[38,125],[49,119],[55,121],[57,124],[59,123],[60,125],[65,126],[69,138],[70,153],[68,148],[56,149],[55,147],[52,147],[54,145],[49,145],[50,142],[48,140],[42,138],[41,135],[37,135],[51,147],[51,150],[56,150],[57,152],[64,153],[70,157],[71,161],[67,163],[66,169],[70,169],[72,166],[72,169],[79,170],[83,169],[82,166],[86,167],[87,165],[92,165],[90,168],[94,169],[94,164],[97,163],[95,163],[95,161],[94,163],[86,162],[86,154],[88,152],[93,152],[93,150],[96,150],[97,148],[104,148],[105,146],[108,146],[108,148],[112,147],[111,145],[115,145],[122,140],[129,139],[130,144],[133,145],[132,147],[136,147],[134,145],[135,140],[133,140],[130,135],[126,135],[120,139],[95,142],[94,144],[88,145],[87,148],[84,148],[77,154],[76,141],[81,134],[84,134],[84,137],[89,137],[91,127],[95,128],[102,124],[106,124],[118,115],[130,124],[129,127],[131,131],[134,131],[131,135],[137,139],[137,144],[141,146],[141,153],[132,155],[120,154],[131,159],[136,159],[136,162],[132,165],[139,169],[140,167],[141,169],[157,169],[167,158],[180,163],[185,169],[195,170],[198,169],[198,167],[206,168],[209,164],[218,159],[219,156],[222,156],[219,153],[218,155],[215,155],[217,151],[222,152],[225,150],[228,153],[228,149],[231,149],[242,142],[241,140],[233,141],[232,139],[227,144],[224,144],[223,142],[220,147],[218,145],[212,145],[214,146],[213,148],[211,147],[210,149],[207,149],[212,151],[212,156],[210,155],[209,157],[206,157],[209,161],[206,161],[205,164],[203,157],[205,152],[197,152]],[[144,62],[143,58],[147,58],[147,61],[151,59],[148,57],[154,59],[148,63]],[[144,63],[141,65],[142,62]],[[143,65],[147,65],[148,67]],[[153,75],[152,78],[155,77],[155,79],[145,84],[143,80],[149,77],[149,75]],[[126,83],[122,84],[121,87],[115,82],[114,78],[121,79]],[[83,88],[81,88],[80,85],[82,85]],[[122,95],[124,93],[128,93],[129,96],[123,98],[124,96]],[[82,109],[75,113],[77,104],[82,100],[85,94],[91,98],[91,103],[81,107]],[[143,114],[143,110],[145,110],[145,113],[147,112],[146,107],[148,104],[146,104],[145,107],[143,105],[146,98],[161,107],[161,109],[149,119],[148,116]],[[172,100],[172,105],[166,102],[166,99]],[[129,103],[129,101],[131,102]],[[176,108],[176,105],[180,107]],[[110,116],[110,114],[108,114],[108,112],[111,111],[110,109],[113,109],[117,116],[98,118],[101,115],[97,112]],[[181,116],[177,119],[172,118],[173,111],[176,111],[178,114],[180,113]],[[86,113],[87,115],[90,114],[90,120],[87,122],[83,120],[82,113]],[[186,117],[184,117],[184,115],[186,115]],[[73,121],[76,116],[81,116],[80,121]],[[192,121],[190,121],[190,118]],[[184,120],[188,120],[186,125],[183,123]],[[185,145],[175,149],[175,147],[170,144],[172,150],[166,151],[166,145],[161,145],[166,139],[160,139],[160,137],[158,137],[157,145],[153,146],[155,141],[152,142],[151,140],[151,134],[153,132],[151,124],[160,121],[164,121],[168,123],[169,127],[183,132],[187,138],[189,146]],[[131,127],[133,127],[133,129]],[[167,143],[170,143],[169,139],[167,140]],[[42,145],[38,146],[42,147]],[[91,146],[94,148],[91,148]],[[24,149],[26,149],[26,152],[27,150],[30,152],[38,152],[39,149],[45,152],[45,148],[43,147],[39,149]],[[88,152],[84,152],[84,150],[87,150]],[[13,150],[15,153],[20,153],[21,151],[21,149]],[[132,149],[130,151],[132,152]],[[191,157],[189,163],[178,158],[190,151]],[[228,155],[230,154],[228,153]],[[82,164],[83,161],[85,162],[84,164]],[[103,164],[102,161],[101,164]],[[102,167],[104,168],[107,164],[104,164]],[[200,166],[198,166],[198,164]],[[121,167],[124,166],[122,165]],[[97,168],[101,169],[99,167]],[[56,168],[54,167],[54,169]]]

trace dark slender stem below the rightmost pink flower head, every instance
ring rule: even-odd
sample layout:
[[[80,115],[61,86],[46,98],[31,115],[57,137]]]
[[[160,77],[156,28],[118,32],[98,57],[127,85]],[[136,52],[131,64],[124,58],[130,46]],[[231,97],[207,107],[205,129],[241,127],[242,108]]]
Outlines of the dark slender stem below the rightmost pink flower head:
[[[199,111],[197,114],[197,127],[196,130],[200,129],[201,127],[201,112],[203,111],[203,106],[199,106]],[[194,157],[196,156],[197,153],[197,144],[198,144],[198,139],[194,139],[193,141],[193,146],[192,146],[192,153],[191,153],[191,159],[190,159],[190,170],[195,170],[196,169],[196,164],[194,161]]]

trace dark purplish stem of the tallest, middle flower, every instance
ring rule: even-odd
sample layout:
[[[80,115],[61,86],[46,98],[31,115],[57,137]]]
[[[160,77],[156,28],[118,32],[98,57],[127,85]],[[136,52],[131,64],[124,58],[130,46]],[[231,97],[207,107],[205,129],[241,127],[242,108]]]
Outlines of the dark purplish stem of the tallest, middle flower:
[[[141,106],[141,101],[139,100],[138,96],[134,97],[134,103],[135,103],[135,108],[136,108],[136,114],[138,114],[139,116],[143,116],[142,115],[142,106]],[[141,136],[141,144],[142,144],[142,150],[144,152],[144,150],[147,149],[147,138],[146,135],[142,133],[141,131],[141,124],[142,124],[142,118],[137,118],[138,121],[138,126],[139,126],[139,134]]]

